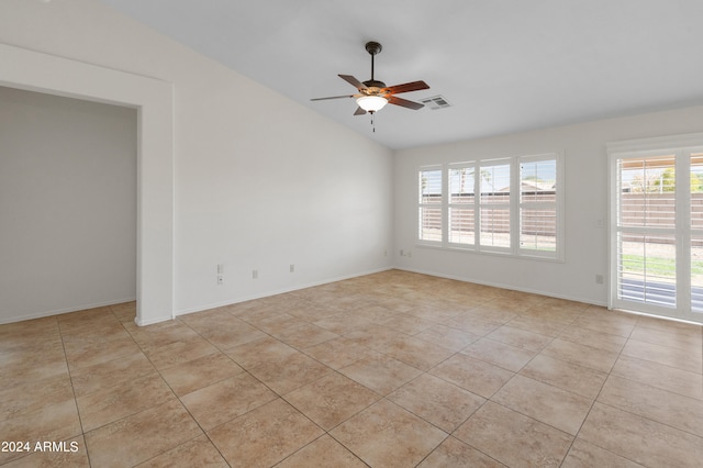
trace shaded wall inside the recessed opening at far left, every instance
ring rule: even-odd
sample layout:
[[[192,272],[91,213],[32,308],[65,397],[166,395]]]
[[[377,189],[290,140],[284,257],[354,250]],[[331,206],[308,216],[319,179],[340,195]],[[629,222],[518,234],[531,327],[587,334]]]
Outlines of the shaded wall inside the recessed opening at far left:
[[[0,323],[136,294],[136,110],[0,87]]]

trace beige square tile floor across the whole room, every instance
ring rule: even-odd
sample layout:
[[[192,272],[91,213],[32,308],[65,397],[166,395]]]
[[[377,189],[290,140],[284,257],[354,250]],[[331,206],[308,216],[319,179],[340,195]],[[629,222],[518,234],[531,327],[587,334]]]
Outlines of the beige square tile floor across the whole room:
[[[701,326],[398,270],[134,314],[0,326],[0,465],[703,463]]]

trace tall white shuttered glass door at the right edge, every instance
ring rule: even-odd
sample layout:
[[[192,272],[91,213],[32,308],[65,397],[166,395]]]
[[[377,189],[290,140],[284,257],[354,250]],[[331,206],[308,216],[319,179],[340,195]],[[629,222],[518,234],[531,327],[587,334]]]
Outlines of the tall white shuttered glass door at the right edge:
[[[610,305],[703,322],[703,134],[609,153]]]

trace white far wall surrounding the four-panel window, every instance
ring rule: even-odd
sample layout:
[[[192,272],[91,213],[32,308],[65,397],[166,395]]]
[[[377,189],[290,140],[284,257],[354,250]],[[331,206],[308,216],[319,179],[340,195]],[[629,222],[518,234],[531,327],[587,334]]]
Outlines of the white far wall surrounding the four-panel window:
[[[406,149],[395,154],[395,250],[400,268],[594,304],[607,303],[607,142],[701,132],[703,107]],[[417,247],[416,170],[471,158],[565,153],[565,261]],[[411,257],[399,255],[410,249]],[[604,285],[595,283],[604,275]]]

